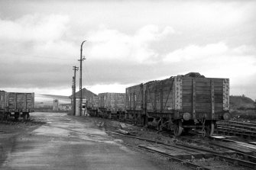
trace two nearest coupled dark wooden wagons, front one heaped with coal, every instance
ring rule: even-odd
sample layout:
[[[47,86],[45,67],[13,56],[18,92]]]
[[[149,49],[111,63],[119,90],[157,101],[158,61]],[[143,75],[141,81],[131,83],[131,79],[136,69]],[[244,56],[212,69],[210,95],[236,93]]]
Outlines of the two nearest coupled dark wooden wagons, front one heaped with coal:
[[[128,118],[148,126],[165,127],[176,136],[200,128],[212,135],[216,120],[228,120],[229,79],[199,73],[177,75],[126,88]]]

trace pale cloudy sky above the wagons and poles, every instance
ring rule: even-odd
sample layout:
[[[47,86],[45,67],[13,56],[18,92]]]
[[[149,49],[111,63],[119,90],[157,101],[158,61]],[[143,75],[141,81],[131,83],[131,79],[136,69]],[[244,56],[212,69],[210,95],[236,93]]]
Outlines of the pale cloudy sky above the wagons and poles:
[[[256,99],[255,1],[0,1],[0,88],[71,95],[199,72]],[[76,74],[79,89],[79,72]]]

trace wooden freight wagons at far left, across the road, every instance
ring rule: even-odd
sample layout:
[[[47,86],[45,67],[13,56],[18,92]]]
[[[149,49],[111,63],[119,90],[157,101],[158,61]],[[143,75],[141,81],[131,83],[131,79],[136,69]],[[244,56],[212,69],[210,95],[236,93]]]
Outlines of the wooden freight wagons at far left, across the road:
[[[0,117],[27,120],[31,112],[34,112],[34,93],[0,91]]]

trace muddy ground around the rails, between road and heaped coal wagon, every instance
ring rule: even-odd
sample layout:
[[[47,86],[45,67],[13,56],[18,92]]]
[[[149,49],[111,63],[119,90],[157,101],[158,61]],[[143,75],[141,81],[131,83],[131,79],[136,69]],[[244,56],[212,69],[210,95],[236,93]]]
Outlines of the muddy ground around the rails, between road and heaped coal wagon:
[[[203,137],[200,136],[200,134],[196,134],[196,132],[191,132],[191,133],[183,134],[183,136],[180,136],[180,137],[175,137],[173,136],[173,133],[171,133],[170,131],[157,131],[153,127],[147,127],[147,128],[138,127],[138,126],[132,125],[131,123],[119,122],[117,120],[107,120],[107,119],[102,119],[100,117],[89,117],[89,119],[92,119],[98,127],[101,127],[102,130],[105,130],[107,132],[115,132],[115,133],[122,133],[122,134],[128,132],[130,136],[136,136],[136,137],[144,138],[147,140],[154,140],[160,143],[167,143],[167,144],[174,144],[174,145],[175,143],[183,143],[191,146],[200,146],[204,149],[212,149],[215,151],[222,151],[222,152],[226,151],[226,149],[209,146],[207,143],[210,141],[210,139],[209,138],[203,139]],[[147,156],[151,156],[152,159],[157,160],[157,162],[162,163],[164,166],[173,165],[173,163],[180,165],[179,162],[170,163],[170,161],[166,157],[160,156],[157,153],[151,153],[143,149],[138,149],[136,147],[133,147],[138,145],[152,144],[150,142],[129,138],[127,136],[120,136],[113,133],[109,133],[109,135],[115,138],[116,140],[121,140],[121,142],[124,145],[130,146],[131,149],[134,149],[137,152],[142,152]],[[237,158],[237,159],[239,158],[239,156],[237,155],[231,155],[230,157]],[[244,168],[238,165],[234,165],[229,162],[225,162],[225,160],[220,160],[219,158],[190,159],[186,161],[193,162],[193,163],[196,163],[197,165],[203,165],[204,167],[216,169],[216,170],[217,169],[218,170],[250,169],[250,168]],[[183,166],[183,168],[185,167]]]

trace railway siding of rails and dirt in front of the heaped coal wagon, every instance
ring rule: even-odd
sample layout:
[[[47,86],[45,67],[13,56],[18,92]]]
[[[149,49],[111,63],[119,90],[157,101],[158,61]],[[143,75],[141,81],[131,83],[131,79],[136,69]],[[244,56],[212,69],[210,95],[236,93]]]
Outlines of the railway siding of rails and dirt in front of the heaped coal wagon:
[[[99,120],[102,119],[99,118]],[[115,122],[115,128],[112,128],[113,131],[108,129],[108,133],[114,138],[122,140],[124,145],[145,150],[149,153],[159,154],[160,156],[166,156],[168,159],[180,162],[182,165],[190,168],[254,169],[256,167],[255,156],[253,156],[254,151],[250,151],[250,147],[253,147],[253,145],[245,143],[234,144],[234,146],[237,145],[248,151],[248,154],[246,154],[238,150],[235,151],[222,146],[212,145],[213,138],[202,138],[202,136],[199,137],[199,135],[195,134],[193,136],[190,134],[188,136],[171,138],[169,134],[169,139],[167,139],[167,136],[165,136],[167,133],[165,132],[156,133],[144,127],[125,123],[126,125],[122,126],[124,127],[122,130],[127,130],[127,132],[133,134],[133,136],[130,136],[118,132],[118,128],[121,128],[121,126],[115,120],[105,120],[105,127],[109,128],[109,125],[113,124],[112,122]],[[191,141],[194,139],[194,142],[187,142],[186,138]],[[229,143],[219,143],[222,143],[223,146],[229,146]]]

